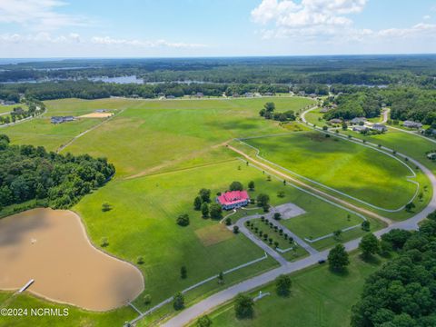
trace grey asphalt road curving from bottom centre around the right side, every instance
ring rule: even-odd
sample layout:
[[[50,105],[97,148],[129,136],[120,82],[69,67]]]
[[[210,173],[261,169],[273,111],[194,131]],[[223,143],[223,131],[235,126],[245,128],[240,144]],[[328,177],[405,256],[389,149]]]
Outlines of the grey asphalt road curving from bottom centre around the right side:
[[[313,109],[313,108],[312,108]],[[310,109],[310,110],[312,110]],[[310,111],[309,110],[309,111]],[[302,120],[305,122],[304,114],[306,114],[308,111],[304,112],[302,114]],[[368,144],[368,143],[367,143]],[[375,145],[375,144],[374,144]],[[384,150],[391,151],[391,149],[383,148]],[[398,154],[401,157],[406,157],[404,154]],[[418,166],[423,173],[427,175],[429,180],[431,181],[431,186],[433,190],[433,194],[431,197],[430,203],[427,205],[427,207],[421,211],[421,213],[415,214],[410,219],[400,222],[400,223],[392,223],[389,227],[386,227],[376,233],[374,233],[377,236],[381,236],[383,233],[388,233],[392,229],[395,228],[401,228],[405,230],[416,230],[418,228],[418,223],[420,223],[423,219],[427,217],[427,215],[434,210],[436,210],[436,177],[433,173],[431,173],[430,169],[427,169],[424,165],[417,162],[414,159],[409,158],[410,162]],[[352,240],[348,243],[344,243],[345,248],[347,251],[352,251],[358,248],[359,243],[361,241],[361,238]],[[204,299],[201,302],[195,303],[193,306],[183,310],[183,312],[180,312],[176,316],[174,316],[172,319],[170,319],[168,322],[163,323],[163,326],[166,327],[181,327],[185,325],[188,322],[192,322],[195,318],[198,316],[203,315],[206,312],[210,312],[213,310],[213,308],[217,307],[220,304],[223,304],[224,302],[230,301],[233,299],[234,296],[236,296],[240,292],[248,292],[253,290],[254,288],[257,288],[259,286],[262,286],[268,282],[272,282],[275,278],[277,278],[282,273],[291,273],[296,272],[299,270],[302,270],[306,267],[309,267],[313,264],[318,263],[318,260],[325,259],[329,253],[329,250],[322,251],[320,253],[312,254],[309,257],[306,257],[302,260],[299,260],[294,263],[286,263],[285,265],[282,265],[279,268],[273,269],[269,272],[264,272],[261,275],[255,276],[253,278],[250,278],[246,281],[237,283],[221,292],[217,292],[208,298]]]

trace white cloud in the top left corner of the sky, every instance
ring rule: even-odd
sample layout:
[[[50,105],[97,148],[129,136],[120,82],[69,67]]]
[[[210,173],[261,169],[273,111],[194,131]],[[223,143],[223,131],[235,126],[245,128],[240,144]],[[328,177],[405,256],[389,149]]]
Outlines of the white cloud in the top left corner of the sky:
[[[0,23],[15,23],[33,30],[54,30],[63,26],[83,26],[89,21],[82,16],[56,12],[67,5],[58,0],[1,0]]]

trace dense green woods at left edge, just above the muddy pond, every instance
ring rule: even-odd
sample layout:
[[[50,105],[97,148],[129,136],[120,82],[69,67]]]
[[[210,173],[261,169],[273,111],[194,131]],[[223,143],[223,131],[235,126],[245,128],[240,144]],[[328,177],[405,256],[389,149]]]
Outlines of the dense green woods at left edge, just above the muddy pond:
[[[52,208],[68,208],[113,174],[114,165],[104,158],[11,145],[0,134],[0,207],[36,199]]]

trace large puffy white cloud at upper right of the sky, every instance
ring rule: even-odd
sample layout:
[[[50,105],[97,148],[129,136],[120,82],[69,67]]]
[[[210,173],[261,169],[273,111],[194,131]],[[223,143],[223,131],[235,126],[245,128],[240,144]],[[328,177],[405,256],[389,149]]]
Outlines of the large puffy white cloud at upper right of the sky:
[[[366,3],[367,0],[302,0],[301,3],[263,0],[251,14],[253,22],[263,26],[260,34],[264,39],[292,38],[306,43],[343,44],[436,36],[436,25],[424,23],[378,31],[355,28],[350,15],[361,13]]]

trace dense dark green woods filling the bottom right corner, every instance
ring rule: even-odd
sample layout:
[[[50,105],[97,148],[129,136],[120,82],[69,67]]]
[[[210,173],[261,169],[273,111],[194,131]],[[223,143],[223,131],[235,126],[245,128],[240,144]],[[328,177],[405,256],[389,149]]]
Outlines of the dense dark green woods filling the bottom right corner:
[[[399,255],[365,282],[352,326],[436,326],[436,222],[414,233],[392,230],[382,236],[381,247]]]

